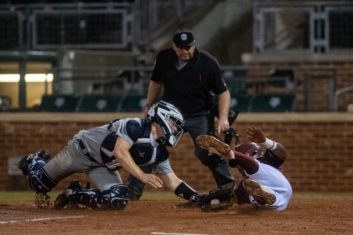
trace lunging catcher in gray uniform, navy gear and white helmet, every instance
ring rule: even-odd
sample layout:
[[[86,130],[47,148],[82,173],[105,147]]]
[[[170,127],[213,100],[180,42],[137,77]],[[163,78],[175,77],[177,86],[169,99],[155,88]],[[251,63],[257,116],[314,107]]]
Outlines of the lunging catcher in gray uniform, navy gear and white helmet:
[[[88,174],[97,189],[84,188],[74,180],[54,202],[55,209],[82,204],[91,208],[122,210],[128,203],[128,187],[122,184],[118,169],[124,168],[145,184],[162,187],[163,182],[177,196],[195,202],[195,190],[181,181],[169,164],[166,145],[178,143],[183,134],[181,111],[164,101],[150,107],[147,119],[116,119],[110,124],[80,130],[52,160],[42,149],[23,157],[18,167],[27,176],[29,186],[47,193],[73,173]],[[146,174],[138,166],[151,164],[155,174]],[[160,175],[160,177],[157,177]]]

